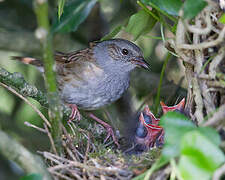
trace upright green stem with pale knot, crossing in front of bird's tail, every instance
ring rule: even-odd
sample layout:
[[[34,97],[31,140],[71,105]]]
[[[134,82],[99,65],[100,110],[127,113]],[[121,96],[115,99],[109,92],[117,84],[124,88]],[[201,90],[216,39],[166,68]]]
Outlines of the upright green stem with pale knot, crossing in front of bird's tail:
[[[51,135],[58,151],[61,149],[61,105],[59,103],[58,90],[56,85],[56,73],[53,68],[53,48],[52,34],[50,33],[50,25],[48,21],[48,1],[36,0],[34,4],[35,13],[38,21],[38,29],[36,36],[40,40],[43,47],[43,63],[45,74],[45,85],[48,91],[49,101],[49,118],[51,123]]]

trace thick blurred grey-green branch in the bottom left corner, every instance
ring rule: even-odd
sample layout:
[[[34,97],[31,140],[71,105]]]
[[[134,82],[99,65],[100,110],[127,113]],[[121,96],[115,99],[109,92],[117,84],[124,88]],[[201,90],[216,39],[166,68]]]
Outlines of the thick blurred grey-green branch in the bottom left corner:
[[[16,162],[26,173],[38,173],[43,180],[50,180],[51,177],[46,170],[43,161],[39,156],[32,154],[17,141],[10,138],[0,130],[0,152],[7,159]]]

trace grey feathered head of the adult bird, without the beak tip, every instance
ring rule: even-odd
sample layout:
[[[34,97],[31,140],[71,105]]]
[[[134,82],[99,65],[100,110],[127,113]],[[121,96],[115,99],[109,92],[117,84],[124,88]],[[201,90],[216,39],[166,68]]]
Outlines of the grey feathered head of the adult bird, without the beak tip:
[[[112,39],[96,44],[93,49],[97,63],[109,73],[129,73],[136,67],[131,60],[143,57],[141,49],[125,39]]]

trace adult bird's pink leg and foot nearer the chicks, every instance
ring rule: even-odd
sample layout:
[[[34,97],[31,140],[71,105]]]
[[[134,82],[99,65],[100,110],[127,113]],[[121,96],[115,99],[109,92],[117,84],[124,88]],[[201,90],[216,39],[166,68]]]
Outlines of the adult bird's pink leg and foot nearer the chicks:
[[[118,140],[114,134],[114,131],[113,131],[113,128],[112,126],[110,126],[108,123],[102,121],[101,119],[97,118],[94,114],[89,114],[89,117],[94,119],[95,121],[97,121],[98,123],[100,123],[101,125],[103,125],[106,129],[106,132],[107,132],[107,136],[106,138],[104,139],[104,143],[109,139],[109,137],[111,136],[112,139],[113,139],[113,142],[117,145],[117,147],[120,147],[119,143],[118,143]]]

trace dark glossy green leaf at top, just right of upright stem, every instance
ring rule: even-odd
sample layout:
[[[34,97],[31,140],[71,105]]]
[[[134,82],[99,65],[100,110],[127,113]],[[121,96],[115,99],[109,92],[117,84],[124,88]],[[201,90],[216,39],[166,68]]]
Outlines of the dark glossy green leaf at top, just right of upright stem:
[[[87,18],[97,0],[72,0],[65,7],[60,18],[55,18],[52,32],[76,31],[78,26]]]

